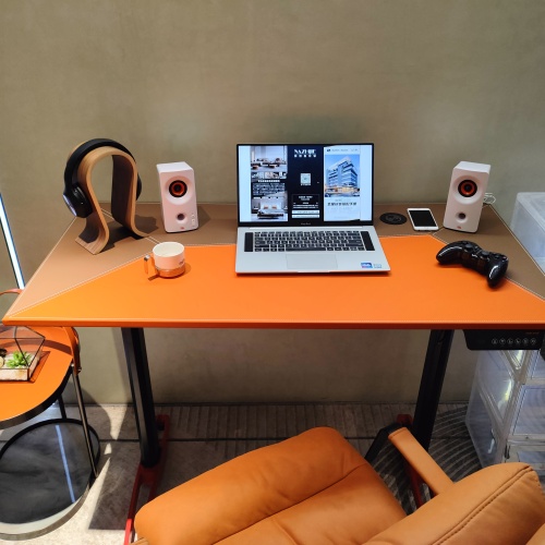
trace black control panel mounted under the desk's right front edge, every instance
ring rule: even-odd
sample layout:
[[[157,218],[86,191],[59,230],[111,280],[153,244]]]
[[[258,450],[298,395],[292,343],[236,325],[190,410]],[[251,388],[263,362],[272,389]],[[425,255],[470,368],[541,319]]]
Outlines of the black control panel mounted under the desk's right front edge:
[[[470,350],[540,350],[545,330],[540,329],[464,329]]]

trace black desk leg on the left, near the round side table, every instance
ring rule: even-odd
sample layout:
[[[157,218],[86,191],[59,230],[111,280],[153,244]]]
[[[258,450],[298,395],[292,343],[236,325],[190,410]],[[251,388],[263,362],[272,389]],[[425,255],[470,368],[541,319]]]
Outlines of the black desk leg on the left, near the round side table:
[[[121,332],[136,415],[141,463],[152,468],[159,462],[160,447],[144,331],[142,328],[122,328]]]

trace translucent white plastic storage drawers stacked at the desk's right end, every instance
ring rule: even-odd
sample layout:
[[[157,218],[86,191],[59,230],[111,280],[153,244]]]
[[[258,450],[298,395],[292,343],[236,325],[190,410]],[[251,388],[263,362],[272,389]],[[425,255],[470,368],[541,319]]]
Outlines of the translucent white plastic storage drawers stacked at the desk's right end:
[[[545,193],[517,195],[511,230],[545,271]],[[525,461],[545,483],[545,361],[541,350],[481,352],[465,423],[482,465]]]

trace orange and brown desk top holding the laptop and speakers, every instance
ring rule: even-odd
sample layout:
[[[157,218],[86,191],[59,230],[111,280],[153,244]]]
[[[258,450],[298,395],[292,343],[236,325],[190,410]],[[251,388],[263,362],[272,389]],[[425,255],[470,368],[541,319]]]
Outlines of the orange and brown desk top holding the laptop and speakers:
[[[391,211],[396,207],[390,205],[387,209]],[[10,308],[4,324],[202,328],[544,327],[543,272],[492,208],[483,213],[479,235],[445,229],[433,235],[415,234],[410,226],[391,226],[390,231],[387,227],[377,229],[390,272],[255,276],[234,272],[235,218],[230,216],[231,209],[226,210],[217,205],[208,208],[207,221],[193,233],[169,235],[156,228],[148,238],[122,239],[96,256],[73,241],[77,227],[72,226]],[[377,209],[377,214],[382,211],[384,208]],[[437,218],[443,217],[440,209],[434,211]],[[221,240],[217,243],[207,239],[215,226],[221,227],[218,231]],[[446,242],[460,239],[508,254],[510,277],[492,289],[486,278],[476,271],[460,265],[440,266],[435,259],[436,253]],[[143,256],[161,240],[178,240],[186,245],[183,276],[146,277]]]

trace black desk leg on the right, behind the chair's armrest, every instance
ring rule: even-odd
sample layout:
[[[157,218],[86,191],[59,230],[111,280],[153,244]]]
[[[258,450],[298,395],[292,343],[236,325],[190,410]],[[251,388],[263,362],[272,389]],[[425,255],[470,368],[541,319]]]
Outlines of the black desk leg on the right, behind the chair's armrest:
[[[455,331],[451,329],[432,330],[427,342],[426,359],[420,383],[419,398],[414,410],[411,431],[419,443],[427,450],[432,440],[435,416],[439,407],[443,380],[447,370],[448,354]]]

